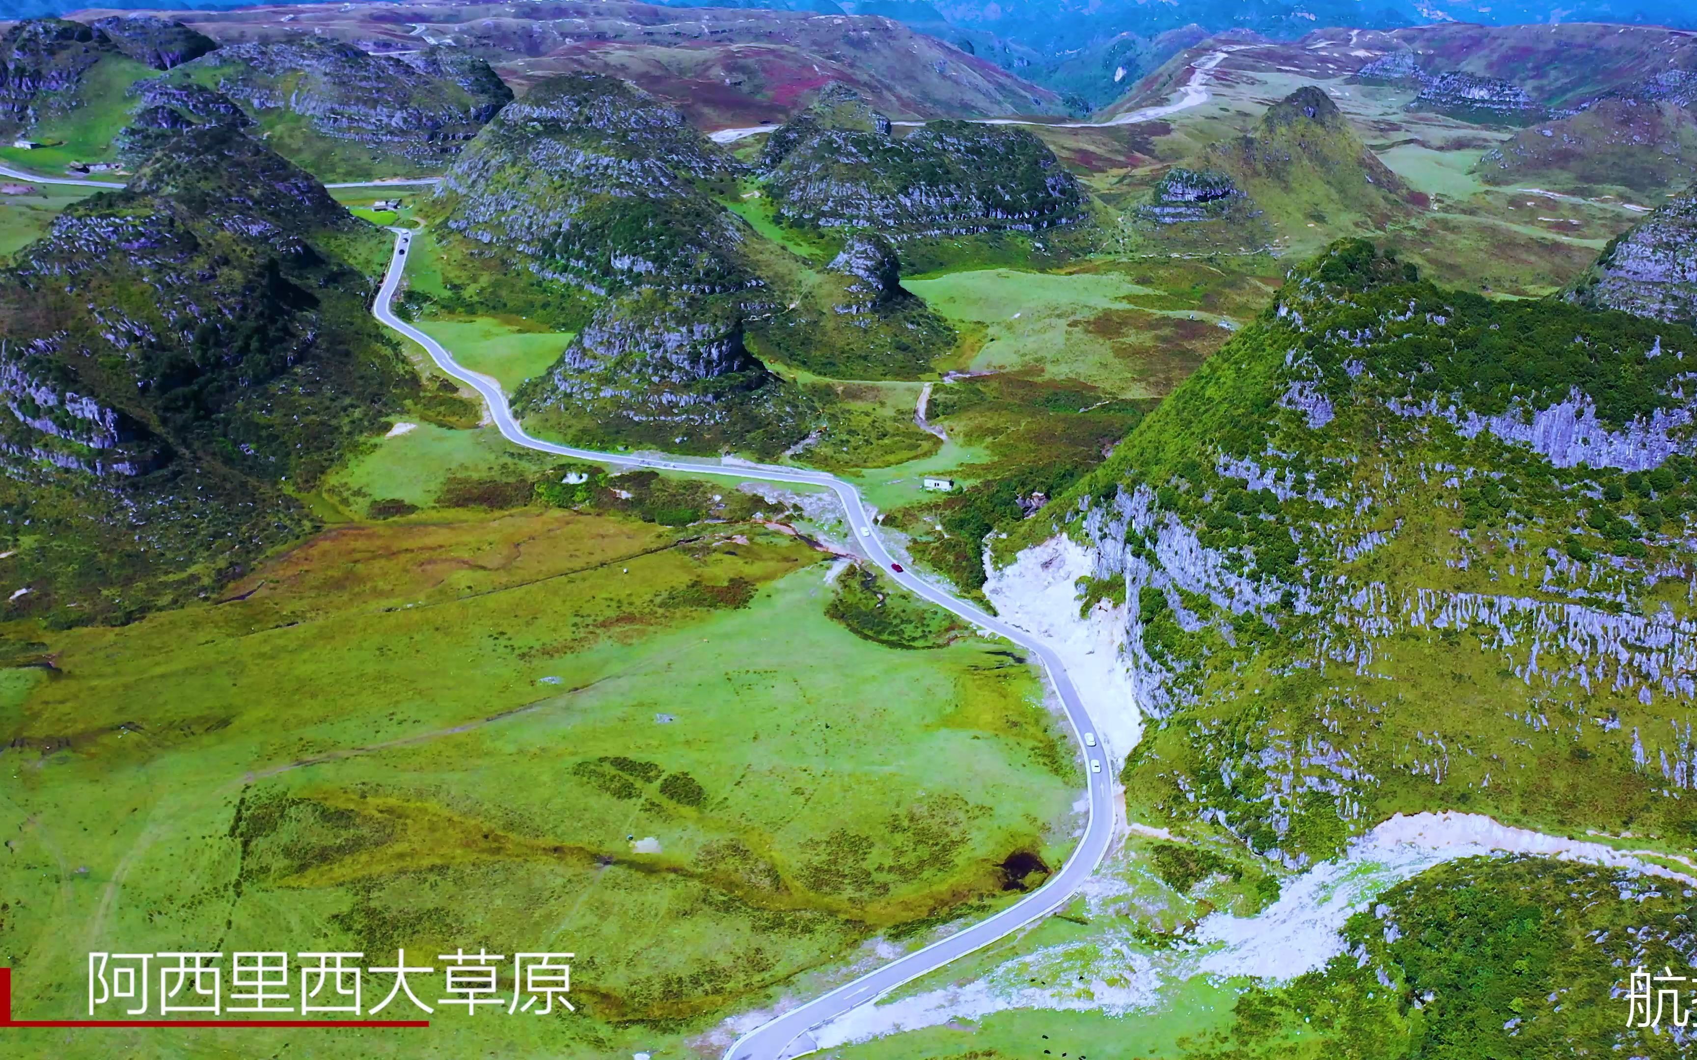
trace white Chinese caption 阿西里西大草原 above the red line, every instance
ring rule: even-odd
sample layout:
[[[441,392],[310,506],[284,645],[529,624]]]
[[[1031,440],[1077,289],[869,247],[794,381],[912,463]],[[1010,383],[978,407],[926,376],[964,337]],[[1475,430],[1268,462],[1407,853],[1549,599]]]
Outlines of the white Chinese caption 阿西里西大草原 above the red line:
[[[367,997],[382,997],[363,1009],[375,1016],[390,1006],[411,1004],[423,1013],[463,1007],[548,1016],[555,1006],[575,1013],[572,953],[475,953],[456,948],[438,953],[440,965],[395,951],[392,965],[365,967],[365,953],[339,950],[280,950],[224,953],[105,953],[88,955],[88,1014],[122,1011],[126,1016],[158,1013],[221,1014],[348,1014],[360,1016]],[[110,1007],[107,1007],[110,1006]]]

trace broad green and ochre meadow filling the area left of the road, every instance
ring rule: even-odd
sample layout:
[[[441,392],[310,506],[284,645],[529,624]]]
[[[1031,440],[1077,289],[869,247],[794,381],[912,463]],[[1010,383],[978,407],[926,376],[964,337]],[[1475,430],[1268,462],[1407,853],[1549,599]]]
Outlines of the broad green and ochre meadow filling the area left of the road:
[[[1005,901],[1010,853],[1064,856],[1078,782],[1033,673],[832,621],[816,556],[736,524],[414,517],[329,531],[227,602],[14,624],[51,660],[0,683],[17,1014],[80,1013],[92,948],[567,948],[575,1016],[438,1014],[428,1048],[628,1057]]]

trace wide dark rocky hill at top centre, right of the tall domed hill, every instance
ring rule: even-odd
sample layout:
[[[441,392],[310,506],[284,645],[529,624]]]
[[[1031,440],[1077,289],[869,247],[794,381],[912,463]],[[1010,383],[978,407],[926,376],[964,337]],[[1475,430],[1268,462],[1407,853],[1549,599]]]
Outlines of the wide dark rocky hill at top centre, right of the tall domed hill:
[[[762,168],[779,217],[893,239],[1035,232],[1084,219],[1084,192],[1025,129],[933,120],[893,137],[848,90],[774,132]]]

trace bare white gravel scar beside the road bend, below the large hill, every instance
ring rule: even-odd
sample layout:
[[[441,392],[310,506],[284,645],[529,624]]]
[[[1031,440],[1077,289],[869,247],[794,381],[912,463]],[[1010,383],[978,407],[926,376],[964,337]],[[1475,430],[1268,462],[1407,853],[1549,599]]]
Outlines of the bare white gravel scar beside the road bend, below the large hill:
[[[988,563],[988,561],[986,561]],[[1137,746],[1144,717],[1132,697],[1125,646],[1125,607],[1101,600],[1079,617],[1078,580],[1096,570],[1095,556],[1071,538],[1027,548],[1003,570],[986,566],[984,595],[1005,621],[1049,641],[1096,721],[1096,739],[1118,770]]]

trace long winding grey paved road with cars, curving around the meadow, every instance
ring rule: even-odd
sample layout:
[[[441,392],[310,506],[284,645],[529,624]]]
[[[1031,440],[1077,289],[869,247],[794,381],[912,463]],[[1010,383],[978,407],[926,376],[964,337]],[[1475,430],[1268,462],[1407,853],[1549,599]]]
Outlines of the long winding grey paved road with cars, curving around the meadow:
[[[1084,743],[1083,733],[1096,731],[1096,724],[1091,721],[1089,711],[1084,709],[1084,702],[1079,699],[1078,689],[1073,687],[1073,680],[1067,677],[1061,658],[1044,641],[1018,626],[1010,626],[1008,622],[986,614],[966,600],[955,599],[911,572],[896,573],[891,570],[894,558],[879,539],[877,529],[860,500],[860,494],[842,478],[804,468],[784,468],[738,460],[691,460],[653,453],[599,453],[596,449],[562,446],[526,434],[518,421],[512,419],[512,410],[507,407],[507,397],[496,380],[463,368],[453,360],[453,354],[450,354],[441,343],[394,314],[392,302],[395,290],[400,287],[400,276],[406,271],[407,246],[412,241],[412,234],[407,229],[390,231],[395,232],[395,249],[389,259],[389,271],[384,275],[384,285],[377,292],[377,302],[372,307],[373,315],[392,331],[397,331],[423,346],[443,371],[477,390],[489,405],[489,416],[494,419],[496,427],[499,427],[501,434],[509,441],[528,449],[558,453],[560,456],[572,456],[577,460],[626,468],[694,471],[703,475],[753,478],[759,482],[789,482],[825,487],[837,494],[837,499],[842,502],[843,512],[848,517],[852,541],[865,550],[867,556],[874,563],[884,568],[886,577],[894,578],[915,595],[925,597],[938,607],[952,611],[967,622],[1005,636],[1030,651],[1037,656],[1044,672],[1049,675],[1049,680],[1061,699],[1061,706],[1066,709],[1067,722],[1073,726],[1073,734],[1078,738],[1079,746],[1083,748]],[[1084,758],[1086,762],[1103,762],[1103,770],[1100,773],[1091,772],[1086,765],[1084,778],[1089,785],[1089,812],[1084,823],[1084,834],[1079,838],[1078,846],[1073,850],[1066,865],[1062,865],[1061,870],[1056,872],[1042,887],[986,921],[962,928],[945,940],[908,953],[874,972],[867,972],[865,975],[837,987],[821,997],[815,997],[813,1001],[770,1019],[769,1023],[738,1038],[736,1043],[725,1053],[725,1060],[781,1060],[784,1057],[799,1057],[804,1052],[811,1052],[811,1040],[804,1038],[811,1028],[842,1016],[855,1006],[867,1004],[869,1001],[888,994],[911,979],[925,975],[927,972],[940,968],[974,950],[988,946],[998,938],[1003,938],[1066,906],[1084,879],[1089,877],[1089,873],[1096,870],[1096,865],[1101,863],[1103,855],[1108,853],[1108,843],[1113,838],[1115,828],[1113,772],[1106,765],[1106,753],[1101,746],[1084,748]],[[798,1043],[798,1040],[801,1041]]]

